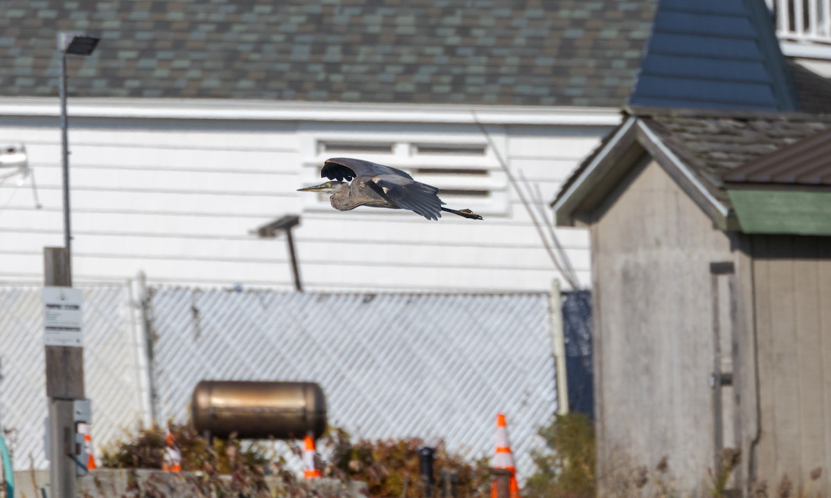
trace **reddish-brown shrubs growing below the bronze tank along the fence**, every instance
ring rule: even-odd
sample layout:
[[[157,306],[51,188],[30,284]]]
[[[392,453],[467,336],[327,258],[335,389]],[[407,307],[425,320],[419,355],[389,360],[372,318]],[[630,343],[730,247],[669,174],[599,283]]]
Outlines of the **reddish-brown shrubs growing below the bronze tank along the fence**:
[[[277,475],[283,482],[287,496],[307,496],[299,486],[297,477],[288,471],[285,461],[278,457],[272,445],[266,442],[240,442],[237,439],[214,438],[211,444],[199,435],[189,423],[168,422],[168,429],[175,434],[182,452],[182,470],[200,471],[206,486],[218,496],[271,496],[266,493],[265,475]],[[102,452],[101,466],[115,468],[160,469],[164,460],[167,430],[162,427],[141,429],[127,434],[125,440],[106,447]],[[386,439],[352,442],[348,432],[331,427],[318,442],[318,468],[322,474],[340,481],[366,482],[370,496],[390,498],[421,498],[424,496],[420,481],[418,451],[425,442],[418,438]],[[302,457],[298,442],[289,447]],[[322,455],[327,459],[322,459]],[[441,471],[455,474],[456,493],[459,498],[480,495],[489,486],[490,468],[487,458],[466,461],[447,452],[444,442],[435,445],[435,489],[433,496],[441,496]],[[231,476],[230,481],[220,476]]]

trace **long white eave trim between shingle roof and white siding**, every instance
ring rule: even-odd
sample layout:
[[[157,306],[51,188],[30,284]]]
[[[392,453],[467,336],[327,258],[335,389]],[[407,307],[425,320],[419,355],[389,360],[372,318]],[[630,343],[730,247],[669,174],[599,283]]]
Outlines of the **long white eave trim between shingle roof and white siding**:
[[[614,126],[619,110],[537,105],[422,105],[273,100],[88,99],[69,100],[74,117],[181,120],[291,120],[411,122],[485,125]],[[0,115],[58,116],[46,97],[0,97]],[[474,115],[475,114],[475,115]]]

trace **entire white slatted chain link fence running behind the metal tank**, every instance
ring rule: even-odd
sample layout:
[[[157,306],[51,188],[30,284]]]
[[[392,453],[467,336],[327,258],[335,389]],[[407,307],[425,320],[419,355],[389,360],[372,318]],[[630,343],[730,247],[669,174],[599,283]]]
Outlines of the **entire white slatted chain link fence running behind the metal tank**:
[[[81,287],[99,451],[154,416],[186,420],[200,380],[299,380],[321,384],[330,423],[355,437],[441,438],[469,457],[493,455],[504,412],[528,475],[557,408],[545,293],[150,287],[144,300],[139,287]],[[0,287],[0,425],[17,470],[47,467],[41,292]]]

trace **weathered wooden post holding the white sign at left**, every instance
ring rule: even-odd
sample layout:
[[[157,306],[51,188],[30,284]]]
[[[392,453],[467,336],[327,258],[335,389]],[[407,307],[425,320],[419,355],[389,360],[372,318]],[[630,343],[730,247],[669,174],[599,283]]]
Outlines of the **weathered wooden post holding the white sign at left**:
[[[69,249],[45,247],[44,285],[71,287]],[[84,398],[84,350],[45,346],[47,396],[49,398],[49,496],[71,498],[76,494],[74,403]]]

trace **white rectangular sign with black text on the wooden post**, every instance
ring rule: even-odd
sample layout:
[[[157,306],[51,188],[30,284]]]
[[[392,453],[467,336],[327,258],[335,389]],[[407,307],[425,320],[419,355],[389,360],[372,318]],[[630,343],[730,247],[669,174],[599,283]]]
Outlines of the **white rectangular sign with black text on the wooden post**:
[[[79,289],[43,288],[43,333],[47,346],[83,347]]]

